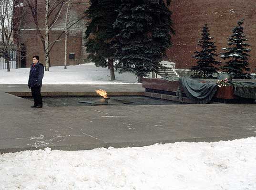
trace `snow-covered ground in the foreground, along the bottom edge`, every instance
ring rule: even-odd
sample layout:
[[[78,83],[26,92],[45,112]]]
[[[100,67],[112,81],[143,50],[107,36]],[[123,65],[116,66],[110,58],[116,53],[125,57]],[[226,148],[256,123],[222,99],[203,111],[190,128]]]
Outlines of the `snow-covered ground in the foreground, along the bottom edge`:
[[[0,190],[256,190],[256,138],[0,155]]]

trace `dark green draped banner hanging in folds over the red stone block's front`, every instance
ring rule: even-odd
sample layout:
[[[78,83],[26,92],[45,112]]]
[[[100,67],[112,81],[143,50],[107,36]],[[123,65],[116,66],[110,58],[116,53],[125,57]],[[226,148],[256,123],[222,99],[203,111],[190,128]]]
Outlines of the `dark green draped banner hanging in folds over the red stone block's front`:
[[[188,77],[182,77],[180,85],[187,97],[193,99],[196,104],[206,104],[211,101],[218,87],[216,82]]]

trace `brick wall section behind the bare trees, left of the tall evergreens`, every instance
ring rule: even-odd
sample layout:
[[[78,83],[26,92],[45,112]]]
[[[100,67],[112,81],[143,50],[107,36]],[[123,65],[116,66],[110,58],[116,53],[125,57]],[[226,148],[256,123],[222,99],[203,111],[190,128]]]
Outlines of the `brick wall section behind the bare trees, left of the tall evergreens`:
[[[24,2],[23,7],[23,17],[21,21],[20,33],[19,33],[19,43],[23,43],[26,47],[26,66],[31,65],[31,59],[34,55],[40,56],[41,63],[45,63],[44,60],[44,50],[41,38],[38,36],[35,30],[36,26],[33,21],[31,10],[26,6]],[[68,22],[76,18],[81,18],[84,11],[88,7],[88,0],[74,0],[70,7]],[[45,14],[45,2],[44,0],[38,0],[38,21],[39,28],[41,28],[41,33],[44,36],[44,14]],[[54,24],[53,29],[50,33],[50,43],[56,40],[63,30],[60,28],[65,28],[65,14],[66,6],[63,7],[61,15],[57,22]],[[74,27],[70,28],[67,41],[67,65],[78,65],[83,63],[84,58],[82,58],[82,41],[83,41],[83,31],[85,30],[85,19],[82,19]],[[65,35],[61,36],[61,40],[56,42],[50,52],[51,66],[63,66],[64,65],[64,48],[65,48]],[[69,59],[69,53],[75,54],[75,59]],[[85,55],[86,56],[86,55]]]

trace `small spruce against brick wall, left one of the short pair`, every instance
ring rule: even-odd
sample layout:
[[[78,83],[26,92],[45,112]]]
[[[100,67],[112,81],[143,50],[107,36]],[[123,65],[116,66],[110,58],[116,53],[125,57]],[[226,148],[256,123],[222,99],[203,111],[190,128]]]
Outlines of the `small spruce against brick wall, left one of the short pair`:
[[[214,73],[217,73],[217,65],[220,65],[219,61],[215,60],[217,57],[215,42],[211,41],[209,28],[207,24],[202,29],[202,38],[198,40],[198,45],[202,48],[201,51],[195,51],[194,57],[198,60],[196,66],[191,67],[191,71],[194,71],[194,75],[198,77],[210,78]]]

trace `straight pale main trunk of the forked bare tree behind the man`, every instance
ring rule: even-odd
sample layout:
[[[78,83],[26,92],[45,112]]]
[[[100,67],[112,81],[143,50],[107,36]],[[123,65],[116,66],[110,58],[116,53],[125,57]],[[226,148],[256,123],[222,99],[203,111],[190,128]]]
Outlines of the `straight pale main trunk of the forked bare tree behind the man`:
[[[45,71],[49,71],[49,0],[45,0]]]

